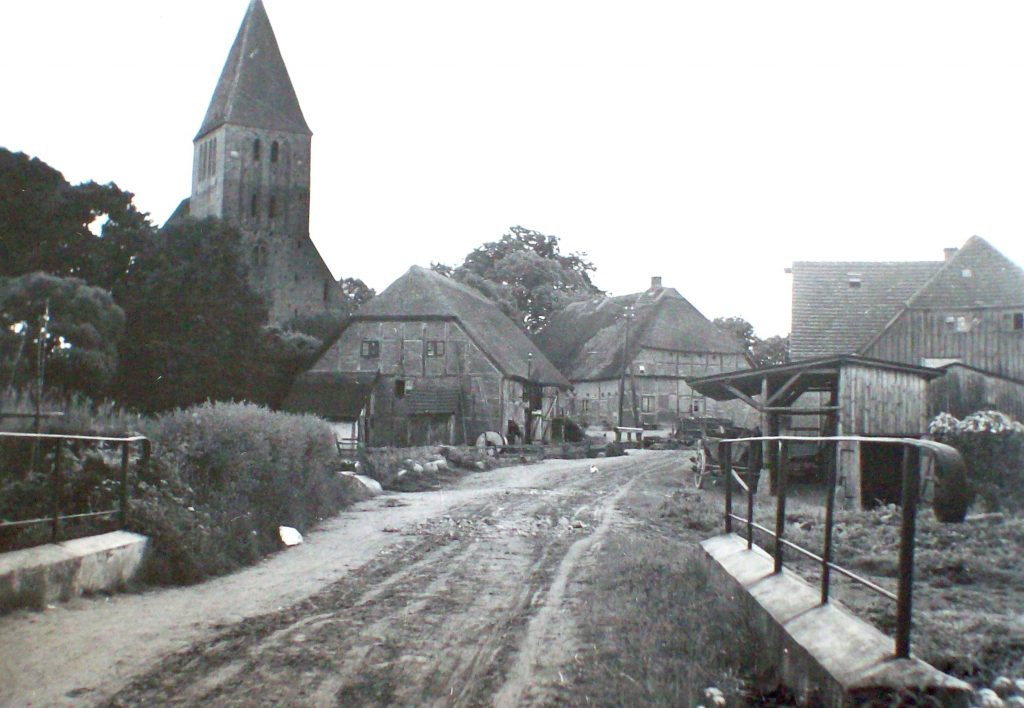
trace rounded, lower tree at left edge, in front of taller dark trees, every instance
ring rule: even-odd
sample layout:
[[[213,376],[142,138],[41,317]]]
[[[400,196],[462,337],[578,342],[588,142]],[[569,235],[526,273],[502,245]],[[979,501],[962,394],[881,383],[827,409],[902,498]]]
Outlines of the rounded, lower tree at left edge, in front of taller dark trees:
[[[105,395],[118,367],[124,311],[111,293],[77,278],[32,273],[0,278],[0,386],[28,386],[38,374],[44,329],[45,382],[65,392]]]

